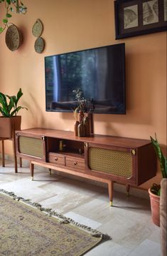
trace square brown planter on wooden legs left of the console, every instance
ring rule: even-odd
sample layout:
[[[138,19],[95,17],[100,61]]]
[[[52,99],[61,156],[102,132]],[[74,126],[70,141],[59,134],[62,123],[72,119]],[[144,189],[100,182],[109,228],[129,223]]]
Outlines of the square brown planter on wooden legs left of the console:
[[[0,137],[12,138],[14,130],[21,130],[21,116],[0,117]]]

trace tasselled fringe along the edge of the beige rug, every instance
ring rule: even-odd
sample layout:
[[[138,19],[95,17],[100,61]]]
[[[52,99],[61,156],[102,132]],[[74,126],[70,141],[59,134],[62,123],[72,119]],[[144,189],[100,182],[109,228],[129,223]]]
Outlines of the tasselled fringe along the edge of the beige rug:
[[[47,213],[48,216],[52,217],[58,217],[60,219],[61,224],[68,224],[71,223],[72,225],[75,225],[77,227],[82,228],[83,230],[87,230],[93,237],[102,237],[102,240],[112,240],[112,237],[110,237],[107,234],[103,234],[102,232],[99,232],[97,230],[94,230],[92,227],[88,227],[86,225],[80,224],[78,222],[75,222],[75,220],[72,220],[70,217],[65,217],[64,215],[55,212],[51,208],[43,208],[43,206],[39,203],[32,203],[30,199],[24,199],[14,194],[14,192],[8,192],[4,189],[0,188],[0,192],[4,193],[5,195],[9,195],[11,198],[17,201],[22,201],[23,203],[26,203],[28,205],[33,206],[34,208],[37,208],[38,210],[41,210],[42,212]]]

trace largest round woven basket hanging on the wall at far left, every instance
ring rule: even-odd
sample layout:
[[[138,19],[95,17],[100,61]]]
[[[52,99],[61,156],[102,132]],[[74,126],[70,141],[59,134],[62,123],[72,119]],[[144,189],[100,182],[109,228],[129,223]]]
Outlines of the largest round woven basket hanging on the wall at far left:
[[[9,26],[5,36],[6,46],[11,51],[16,51],[22,43],[21,31],[13,24]]]

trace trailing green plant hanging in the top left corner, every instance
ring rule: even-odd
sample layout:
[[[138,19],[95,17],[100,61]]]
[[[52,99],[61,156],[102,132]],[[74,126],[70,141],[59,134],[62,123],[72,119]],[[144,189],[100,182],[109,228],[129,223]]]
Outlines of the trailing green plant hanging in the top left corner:
[[[22,1],[18,0],[0,0],[0,4],[4,5],[5,16],[1,20],[3,26],[0,26],[0,34],[6,29],[6,26],[9,23],[9,19],[12,17],[12,12],[16,11],[17,14],[26,14],[27,7],[23,4]],[[1,5],[1,6],[2,6]]]

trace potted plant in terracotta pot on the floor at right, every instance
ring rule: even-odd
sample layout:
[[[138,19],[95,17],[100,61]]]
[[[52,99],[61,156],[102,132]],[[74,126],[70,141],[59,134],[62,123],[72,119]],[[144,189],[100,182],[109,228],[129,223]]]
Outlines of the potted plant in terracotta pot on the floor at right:
[[[161,168],[162,177],[167,178],[167,159],[163,155],[161,147],[156,138],[156,134],[155,134],[155,139],[152,137],[150,138],[151,138],[151,143],[153,145],[153,148],[156,151],[156,155]],[[151,200],[151,215],[152,215],[153,223],[158,226],[160,226],[160,205],[159,205],[160,195],[161,195],[161,185],[153,183],[151,188],[149,188],[149,196]]]

